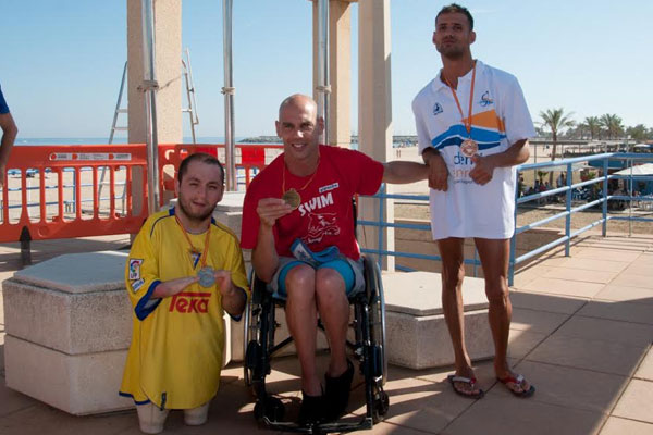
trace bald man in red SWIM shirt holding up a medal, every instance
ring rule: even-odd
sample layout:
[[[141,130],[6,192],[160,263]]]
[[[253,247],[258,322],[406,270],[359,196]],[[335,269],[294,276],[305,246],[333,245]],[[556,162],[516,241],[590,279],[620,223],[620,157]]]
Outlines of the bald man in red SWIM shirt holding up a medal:
[[[251,182],[245,196],[241,245],[254,249],[256,275],[286,298],[285,313],[301,366],[300,425],[337,420],[354,375],[346,357],[348,297],[365,288],[352,197],[381,183],[428,177],[421,163],[380,163],[349,149],[319,145],[324,121],[304,95],[279,108],[284,152]],[[317,319],[331,349],[324,384],[316,371]]]

